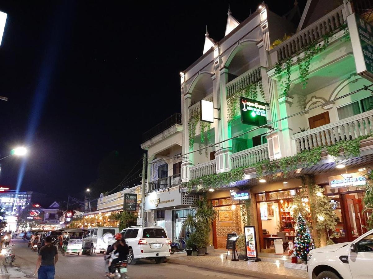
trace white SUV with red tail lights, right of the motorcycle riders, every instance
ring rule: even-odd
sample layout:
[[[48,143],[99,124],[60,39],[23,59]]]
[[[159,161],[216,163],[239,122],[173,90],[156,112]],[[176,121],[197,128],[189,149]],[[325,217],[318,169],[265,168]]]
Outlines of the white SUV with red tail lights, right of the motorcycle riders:
[[[171,240],[162,227],[131,226],[123,229],[122,237],[128,245],[128,263],[135,264],[138,259],[155,260],[163,263],[170,256]],[[109,241],[109,248],[115,240]]]

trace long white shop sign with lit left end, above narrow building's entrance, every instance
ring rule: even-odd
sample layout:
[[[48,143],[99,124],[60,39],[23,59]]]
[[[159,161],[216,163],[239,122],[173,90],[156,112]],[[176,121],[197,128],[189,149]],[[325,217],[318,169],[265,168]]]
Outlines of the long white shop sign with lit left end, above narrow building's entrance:
[[[145,210],[181,205],[181,193],[178,190],[157,193],[145,197]]]

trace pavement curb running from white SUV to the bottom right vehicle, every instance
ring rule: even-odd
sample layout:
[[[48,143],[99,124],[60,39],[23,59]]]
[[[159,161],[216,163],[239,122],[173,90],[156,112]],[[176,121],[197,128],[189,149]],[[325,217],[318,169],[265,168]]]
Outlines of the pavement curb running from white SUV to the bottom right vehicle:
[[[232,267],[225,267],[225,266],[206,266],[206,264],[194,262],[193,265],[190,265],[189,262],[178,260],[178,259],[167,259],[167,263],[177,263],[177,264],[184,264],[190,267],[201,267],[203,269],[209,269],[213,271],[223,271],[232,274],[239,274],[239,275],[246,275],[246,276],[253,276],[257,278],[264,278],[264,279],[299,279],[298,276],[290,276],[290,275],[280,275],[280,274],[273,274],[267,272],[259,272],[253,271],[248,269],[234,269]]]

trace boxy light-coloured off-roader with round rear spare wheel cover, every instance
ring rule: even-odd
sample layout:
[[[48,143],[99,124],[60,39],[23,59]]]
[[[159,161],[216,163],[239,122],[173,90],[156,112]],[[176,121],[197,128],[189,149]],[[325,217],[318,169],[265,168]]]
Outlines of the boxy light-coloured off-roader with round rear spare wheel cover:
[[[87,236],[83,238],[82,253],[89,253],[91,256],[96,256],[96,253],[104,253],[109,241],[117,233],[119,233],[119,228],[117,227],[94,227],[88,229]]]

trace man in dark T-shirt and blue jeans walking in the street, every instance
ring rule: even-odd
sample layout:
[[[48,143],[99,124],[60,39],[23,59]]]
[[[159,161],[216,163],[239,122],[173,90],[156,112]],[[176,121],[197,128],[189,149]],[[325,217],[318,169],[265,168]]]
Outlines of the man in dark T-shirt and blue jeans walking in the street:
[[[54,279],[54,265],[58,261],[58,252],[56,246],[52,245],[52,238],[46,237],[45,246],[40,248],[38,261],[36,263],[35,273],[38,273],[38,279]]]

